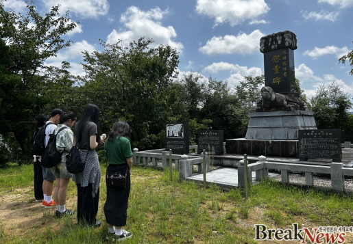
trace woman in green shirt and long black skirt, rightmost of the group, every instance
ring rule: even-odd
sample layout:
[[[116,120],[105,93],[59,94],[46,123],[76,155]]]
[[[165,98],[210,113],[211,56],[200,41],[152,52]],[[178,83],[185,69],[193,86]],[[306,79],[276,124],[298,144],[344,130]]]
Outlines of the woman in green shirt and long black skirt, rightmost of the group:
[[[125,188],[107,186],[107,199],[104,204],[104,214],[108,226],[108,239],[121,241],[130,238],[132,234],[123,230],[127,219],[127,203],[130,195],[130,170],[132,167],[132,151],[130,144],[130,126],[119,121],[114,124],[108,134],[104,148],[108,160],[107,174],[120,173],[126,175]]]

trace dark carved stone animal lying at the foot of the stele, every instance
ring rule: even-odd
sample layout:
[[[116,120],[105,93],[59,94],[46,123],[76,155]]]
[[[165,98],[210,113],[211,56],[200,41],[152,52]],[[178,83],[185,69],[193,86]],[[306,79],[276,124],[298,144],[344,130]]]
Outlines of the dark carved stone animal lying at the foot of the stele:
[[[261,100],[258,102],[256,112],[306,110],[302,99],[273,92],[271,87],[261,88]]]

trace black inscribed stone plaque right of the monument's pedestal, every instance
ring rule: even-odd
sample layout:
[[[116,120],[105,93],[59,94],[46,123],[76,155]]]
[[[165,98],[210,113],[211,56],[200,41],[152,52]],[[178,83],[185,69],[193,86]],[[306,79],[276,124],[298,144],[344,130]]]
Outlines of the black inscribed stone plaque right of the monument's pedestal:
[[[341,162],[341,130],[299,130],[299,159],[332,159]]]

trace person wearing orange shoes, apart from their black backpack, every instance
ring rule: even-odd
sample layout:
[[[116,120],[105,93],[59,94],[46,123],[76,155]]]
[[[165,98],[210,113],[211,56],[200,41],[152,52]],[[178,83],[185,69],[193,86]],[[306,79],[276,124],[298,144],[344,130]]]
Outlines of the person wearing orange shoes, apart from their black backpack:
[[[45,140],[44,144],[45,147],[49,141],[49,135],[53,134],[54,130],[56,129],[56,124],[60,122],[60,116],[62,114],[61,109],[54,109],[51,111],[51,115],[49,120],[46,122],[47,128],[45,128]],[[54,188],[54,180],[55,176],[51,172],[50,168],[42,167],[42,174],[43,174],[43,196],[44,199],[42,201],[42,206],[45,208],[56,208],[56,202],[52,198],[53,188]]]

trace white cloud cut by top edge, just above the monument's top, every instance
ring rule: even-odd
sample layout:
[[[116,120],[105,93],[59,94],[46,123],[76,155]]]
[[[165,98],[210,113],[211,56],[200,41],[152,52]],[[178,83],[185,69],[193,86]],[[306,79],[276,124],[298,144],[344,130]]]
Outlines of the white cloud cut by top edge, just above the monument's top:
[[[215,25],[229,22],[231,26],[255,21],[270,8],[264,0],[197,0],[196,12],[215,18]]]

